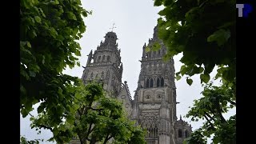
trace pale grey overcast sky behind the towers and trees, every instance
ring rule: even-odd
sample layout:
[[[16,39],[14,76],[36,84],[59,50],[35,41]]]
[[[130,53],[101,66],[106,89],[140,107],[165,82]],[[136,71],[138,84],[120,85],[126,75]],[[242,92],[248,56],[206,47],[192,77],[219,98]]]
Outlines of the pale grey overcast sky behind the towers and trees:
[[[64,73],[82,77],[82,66],[86,66],[87,54],[90,50],[96,50],[101,41],[104,41],[105,34],[110,31],[113,23],[116,28],[113,30],[118,36],[118,48],[121,49],[123,63],[122,82],[127,81],[130,93],[134,96],[134,90],[137,88],[138,74],[141,69],[140,62],[142,57],[142,46],[149,38],[153,38],[154,26],[157,25],[158,11],[161,7],[154,7],[153,0],[81,0],[82,6],[86,10],[92,10],[92,15],[84,18],[86,24],[86,33],[79,43],[82,47],[82,57],[79,58],[81,67],[65,70]],[[178,71],[182,63],[179,59],[181,54],[174,57],[175,70]],[[215,72],[216,73],[216,72]],[[212,74],[214,75],[214,74]],[[202,86],[199,76],[193,76],[193,84],[186,84],[186,78],[176,82],[177,87],[177,116],[184,116],[189,106],[193,106],[193,100],[201,98]],[[217,82],[218,83],[218,82]],[[232,110],[230,114],[234,114]],[[36,110],[32,112],[36,114]],[[226,118],[230,116],[226,114]],[[190,119],[182,118],[186,122]],[[202,125],[202,122],[190,122],[193,130]],[[42,134],[37,135],[35,130],[30,129],[29,117],[21,117],[21,135],[28,139],[50,138],[51,133],[48,130],[42,130]],[[46,142],[43,142],[46,143]]]

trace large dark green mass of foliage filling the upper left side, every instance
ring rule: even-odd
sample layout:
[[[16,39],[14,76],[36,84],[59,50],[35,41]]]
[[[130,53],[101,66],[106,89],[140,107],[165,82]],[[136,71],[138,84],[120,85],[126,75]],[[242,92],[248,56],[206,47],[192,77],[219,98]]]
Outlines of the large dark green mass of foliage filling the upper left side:
[[[62,122],[71,104],[68,90],[77,78],[62,74],[66,66],[79,65],[86,26],[80,0],[22,0],[20,2],[20,109],[26,117],[42,102],[38,114],[48,114],[50,125]]]

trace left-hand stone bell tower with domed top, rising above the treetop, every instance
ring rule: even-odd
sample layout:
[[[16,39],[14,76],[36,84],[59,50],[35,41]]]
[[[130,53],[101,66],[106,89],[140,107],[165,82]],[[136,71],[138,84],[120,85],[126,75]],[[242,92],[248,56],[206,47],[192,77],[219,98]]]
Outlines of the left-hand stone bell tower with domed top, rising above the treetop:
[[[96,80],[103,82],[103,88],[114,97],[122,87],[122,62],[118,49],[117,35],[110,31],[100,42],[97,50],[90,51],[82,74],[84,83]]]

